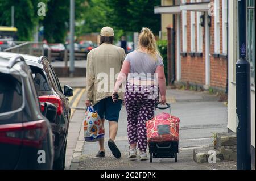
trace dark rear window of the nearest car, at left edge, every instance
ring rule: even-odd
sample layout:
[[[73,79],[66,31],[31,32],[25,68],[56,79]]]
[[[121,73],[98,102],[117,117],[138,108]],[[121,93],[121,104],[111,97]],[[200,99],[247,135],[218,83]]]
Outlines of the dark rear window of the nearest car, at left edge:
[[[11,75],[0,73],[0,114],[22,107],[22,83]]]

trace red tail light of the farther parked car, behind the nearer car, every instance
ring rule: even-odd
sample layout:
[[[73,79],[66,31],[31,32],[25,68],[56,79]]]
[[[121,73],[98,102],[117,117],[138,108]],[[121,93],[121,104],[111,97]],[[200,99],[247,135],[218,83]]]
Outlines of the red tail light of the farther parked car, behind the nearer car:
[[[58,115],[61,115],[61,113],[63,112],[62,100],[60,99],[60,97],[56,95],[43,95],[43,96],[39,96],[38,98],[39,98],[42,112],[44,111],[45,102],[52,103],[54,106],[56,106]]]

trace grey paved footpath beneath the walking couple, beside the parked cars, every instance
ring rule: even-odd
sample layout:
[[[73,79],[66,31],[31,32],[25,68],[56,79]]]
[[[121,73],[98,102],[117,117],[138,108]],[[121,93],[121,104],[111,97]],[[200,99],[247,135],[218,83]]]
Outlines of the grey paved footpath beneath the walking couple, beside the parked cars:
[[[232,161],[218,161],[216,164],[198,164],[193,161],[194,148],[212,150],[213,134],[227,132],[227,107],[225,104],[218,102],[218,97],[209,95],[208,92],[176,89],[167,90],[167,102],[171,103],[172,114],[180,118],[177,163],[175,163],[174,158],[153,159],[153,163],[127,158],[129,144],[127,141],[127,115],[124,106],[120,113],[118,134],[115,139],[121,150],[122,157],[115,159],[108,148],[108,121],[105,122],[106,157],[95,157],[98,151],[98,143],[85,142],[82,130],[82,121],[85,113],[85,88],[81,80],[84,79],[81,77],[72,79],[60,78],[61,83],[64,82],[71,87],[74,87],[74,85],[76,87],[74,96],[70,101],[72,118],[69,125],[65,169],[236,169],[236,164]],[[156,114],[160,112],[162,111],[157,110]],[[164,110],[164,112],[168,112],[168,110]]]

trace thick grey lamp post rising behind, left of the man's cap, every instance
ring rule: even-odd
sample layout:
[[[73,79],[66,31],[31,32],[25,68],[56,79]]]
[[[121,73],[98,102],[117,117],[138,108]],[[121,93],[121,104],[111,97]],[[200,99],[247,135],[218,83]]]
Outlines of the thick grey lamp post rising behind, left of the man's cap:
[[[75,31],[75,1],[70,0],[70,41],[69,41],[69,76],[74,76],[74,31]]]

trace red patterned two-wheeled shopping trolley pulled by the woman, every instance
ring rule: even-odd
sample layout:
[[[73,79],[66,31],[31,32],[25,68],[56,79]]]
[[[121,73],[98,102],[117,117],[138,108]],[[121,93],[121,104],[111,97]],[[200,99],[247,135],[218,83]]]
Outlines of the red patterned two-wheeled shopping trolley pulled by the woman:
[[[155,108],[160,110],[169,109],[170,113],[160,113],[146,121],[147,141],[150,152],[150,163],[153,158],[175,158],[179,153],[179,123],[180,119],[171,115],[171,106]]]

